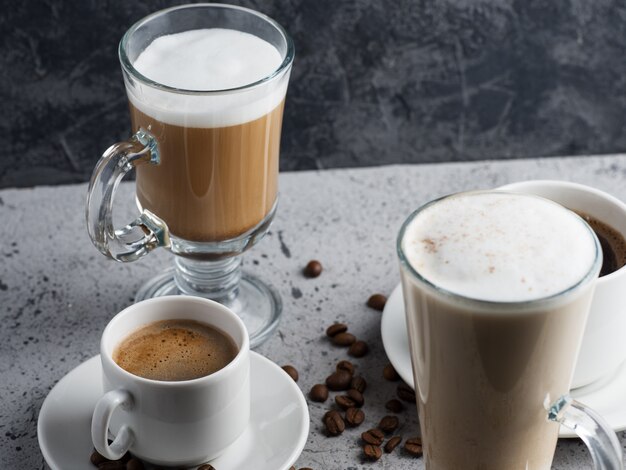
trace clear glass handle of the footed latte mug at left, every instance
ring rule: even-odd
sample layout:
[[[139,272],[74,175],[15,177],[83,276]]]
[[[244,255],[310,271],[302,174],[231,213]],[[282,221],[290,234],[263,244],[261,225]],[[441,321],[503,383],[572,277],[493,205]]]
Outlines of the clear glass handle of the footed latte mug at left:
[[[125,227],[113,227],[113,198],[122,178],[137,165],[158,163],[157,142],[142,129],[109,147],[98,161],[89,182],[86,216],[91,241],[104,255],[135,261],[169,245],[167,226],[147,210]]]

